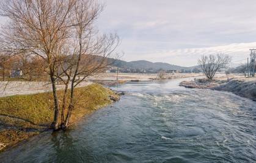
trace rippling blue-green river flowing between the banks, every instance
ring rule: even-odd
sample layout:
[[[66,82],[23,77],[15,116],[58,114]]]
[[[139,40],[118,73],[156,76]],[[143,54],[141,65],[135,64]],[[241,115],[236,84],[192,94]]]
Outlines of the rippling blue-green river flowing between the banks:
[[[120,102],[7,150],[0,162],[256,162],[256,102],[180,81],[114,86],[128,92]]]

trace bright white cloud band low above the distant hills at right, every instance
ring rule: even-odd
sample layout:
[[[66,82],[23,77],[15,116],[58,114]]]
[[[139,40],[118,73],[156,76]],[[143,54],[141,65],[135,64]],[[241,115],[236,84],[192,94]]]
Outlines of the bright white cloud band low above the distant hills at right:
[[[245,63],[249,57],[249,49],[256,47],[254,43],[234,43],[223,46],[200,47],[191,49],[172,49],[144,55],[136,55],[131,60],[162,61],[167,63],[180,63],[183,66],[194,66],[201,55],[227,54],[232,56],[232,63]]]

